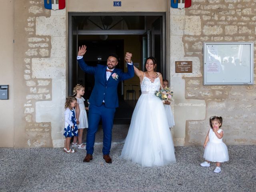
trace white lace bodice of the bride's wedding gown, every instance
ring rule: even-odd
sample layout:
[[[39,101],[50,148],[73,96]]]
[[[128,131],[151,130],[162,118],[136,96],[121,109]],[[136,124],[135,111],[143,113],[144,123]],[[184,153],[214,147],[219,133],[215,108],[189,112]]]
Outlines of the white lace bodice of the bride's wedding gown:
[[[156,91],[159,91],[160,85],[159,77],[157,77],[152,83],[148,77],[144,76],[140,89],[142,94],[154,94]]]

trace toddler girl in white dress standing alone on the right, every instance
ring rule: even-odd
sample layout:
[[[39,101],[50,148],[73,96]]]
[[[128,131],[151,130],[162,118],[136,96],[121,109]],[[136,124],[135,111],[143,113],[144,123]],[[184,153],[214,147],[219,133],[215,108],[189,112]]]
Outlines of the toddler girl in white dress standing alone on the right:
[[[202,167],[210,167],[210,162],[216,162],[215,173],[220,173],[220,163],[228,161],[228,148],[224,142],[223,130],[220,129],[222,125],[222,117],[213,116],[210,118],[210,130],[204,141],[204,158],[205,162],[201,163]]]

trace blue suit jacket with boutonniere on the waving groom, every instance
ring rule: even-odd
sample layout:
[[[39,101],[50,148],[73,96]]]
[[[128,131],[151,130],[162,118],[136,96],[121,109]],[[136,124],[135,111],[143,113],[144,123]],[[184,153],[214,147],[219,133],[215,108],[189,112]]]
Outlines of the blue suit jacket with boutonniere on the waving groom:
[[[90,74],[94,74],[95,84],[89,102],[96,106],[101,106],[105,101],[106,108],[118,107],[117,86],[120,81],[130,79],[134,76],[133,65],[128,65],[128,72],[122,72],[121,69],[114,68],[111,76],[106,79],[106,68],[104,65],[88,66],[84,59],[78,59],[80,68]],[[116,75],[116,78],[113,76]]]

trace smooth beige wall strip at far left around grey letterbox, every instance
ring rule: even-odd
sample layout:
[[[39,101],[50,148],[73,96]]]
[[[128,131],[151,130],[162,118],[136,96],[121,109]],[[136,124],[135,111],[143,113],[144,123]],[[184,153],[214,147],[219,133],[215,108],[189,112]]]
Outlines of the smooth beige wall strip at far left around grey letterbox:
[[[0,147],[14,147],[14,0],[0,5],[0,84],[9,85],[9,99],[0,100]]]

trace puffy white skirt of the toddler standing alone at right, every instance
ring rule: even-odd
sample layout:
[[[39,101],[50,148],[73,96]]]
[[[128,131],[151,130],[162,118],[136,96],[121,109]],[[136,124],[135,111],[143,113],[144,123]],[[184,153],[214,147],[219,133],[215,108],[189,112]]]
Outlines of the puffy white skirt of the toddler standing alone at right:
[[[208,142],[204,150],[204,158],[212,162],[225,162],[229,160],[228,148],[224,142]]]

